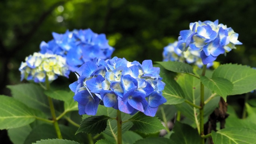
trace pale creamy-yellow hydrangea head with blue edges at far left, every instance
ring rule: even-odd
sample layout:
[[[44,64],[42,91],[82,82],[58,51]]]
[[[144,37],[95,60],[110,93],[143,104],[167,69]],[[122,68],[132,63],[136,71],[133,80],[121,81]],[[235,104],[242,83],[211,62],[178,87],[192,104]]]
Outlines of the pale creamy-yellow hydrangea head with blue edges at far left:
[[[56,80],[58,76],[68,78],[70,70],[66,64],[66,58],[56,54],[41,54],[35,52],[25,58],[20,65],[21,80],[34,80],[34,82],[45,82],[46,76],[49,81]]]

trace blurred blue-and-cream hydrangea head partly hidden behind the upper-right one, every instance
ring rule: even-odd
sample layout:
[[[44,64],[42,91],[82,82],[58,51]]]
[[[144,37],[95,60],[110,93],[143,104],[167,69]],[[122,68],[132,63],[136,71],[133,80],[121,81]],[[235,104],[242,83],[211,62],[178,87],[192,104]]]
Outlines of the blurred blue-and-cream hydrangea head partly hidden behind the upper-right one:
[[[163,61],[178,61],[178,62],[187,62],[188,64],[195,64],[199,68],[202,68],[204,65],[202,58],[200,57],[200,51],[193,50],[188,48],[187,51],[181,51],[178,48],[178,41],[168,44],[164,47],[163,51]],[[211,67],[213,62],[207,64],[207,68]]]

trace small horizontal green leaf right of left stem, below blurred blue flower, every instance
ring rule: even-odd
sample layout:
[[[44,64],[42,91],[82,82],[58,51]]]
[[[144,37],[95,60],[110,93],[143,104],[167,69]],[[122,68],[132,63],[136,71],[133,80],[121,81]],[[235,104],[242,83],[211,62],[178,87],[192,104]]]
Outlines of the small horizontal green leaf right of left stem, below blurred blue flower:
[[[44,94],[46,96],[49,96],[56,100],[62,100],[64,102],[69,101],[74,96],[74,92],[72,91],[66,91],[66,90],[46,90],[44,91]]]

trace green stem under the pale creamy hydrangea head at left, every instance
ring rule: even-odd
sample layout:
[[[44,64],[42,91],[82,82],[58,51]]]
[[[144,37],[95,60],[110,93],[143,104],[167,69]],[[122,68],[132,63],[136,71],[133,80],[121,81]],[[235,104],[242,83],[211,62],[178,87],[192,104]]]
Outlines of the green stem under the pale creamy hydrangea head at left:
[[[47,75],[46,75],[46,89],[50,90],[50,82],[48,80]],[[49,102],[49,105],[50,105],[50,110],[51,110],[51,114],[52,114],[52,121],[53,121],[55,131],[57,133],[58,138],[62,139],[62,135],[61,135],[61,132],[60,132],[60,127],[59,127],[58,121],[56,120],[56,114],[55,114],[52,98],[50,98],[49,96],[47,96],[47,97],[48,97],[48,102]]]

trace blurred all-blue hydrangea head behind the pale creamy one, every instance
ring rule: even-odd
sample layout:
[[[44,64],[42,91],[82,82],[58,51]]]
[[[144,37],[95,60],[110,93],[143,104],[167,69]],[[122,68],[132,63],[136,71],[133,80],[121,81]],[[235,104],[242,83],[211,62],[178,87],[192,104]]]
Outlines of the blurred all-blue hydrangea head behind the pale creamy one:
[[[52,33],[53,40],[41,42],[40,53],[52,53],[66,57],[69,69],[75,72],[84,62],[95,57],[106,60],[111,58],[114,48],[108,45],[105,34],[86,30],[66,31],[65,34]]]

